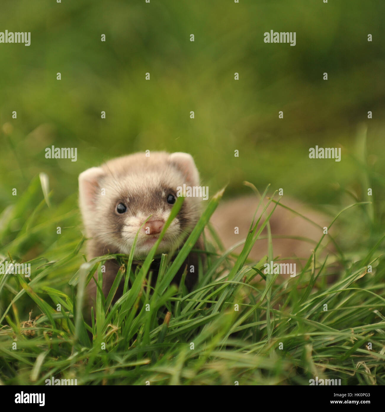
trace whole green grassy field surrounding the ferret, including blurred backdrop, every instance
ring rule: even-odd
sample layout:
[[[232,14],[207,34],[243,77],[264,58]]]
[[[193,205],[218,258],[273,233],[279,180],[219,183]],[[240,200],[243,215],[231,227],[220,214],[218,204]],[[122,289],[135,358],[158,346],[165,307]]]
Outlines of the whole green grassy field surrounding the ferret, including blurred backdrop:
[[[0,262],[31,276],[0,274],[0,383],[384,384],[384,12],[379,0],[5,2],[0,29],[31,44],[0,44]],[[296,46],[265,44],[271,29],[295,31]],[[77,162],[45,158],[51,145],[76,147]],[[315,145],[341,147],[341,162],[309,159]],[[270,184],[267,197],[284,188],[338,216],[339,266],[316,249],[276,282],[261,272],[274,239],[247,259],[255,230],[239,256],[207,244],[187,293],[170,283],[192,241],[155,290],[148,261],[132,273],[112,256],[127,293],[100,295],[88,325],[84,287],[106,257],[84,257],[77,178],[145,150],[194,156],[211,199],[194,236],[222,187],[225,200],[250,192],[244,180]]]

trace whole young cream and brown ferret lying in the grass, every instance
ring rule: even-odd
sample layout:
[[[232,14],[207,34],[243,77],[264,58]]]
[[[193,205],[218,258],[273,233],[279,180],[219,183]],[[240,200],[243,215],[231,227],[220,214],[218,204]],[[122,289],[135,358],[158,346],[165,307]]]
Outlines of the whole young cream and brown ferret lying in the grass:
[[[199,173],[193,157],[182,152],[151,152],[148,157],[145,153],[135,153],[112,159],[102,166],[92,167],[81,173],[79,206],[88,238],[87,258],[114,253],[128,255],[136,233],[151,215],[140,229],[134,254],[135,264],[145,260],[170,215],[176,201],[177,187],[184,185],[198,186]],[[173,255],[180,249],[200,218],[201,204],[202,199],[199,197],[185,197],[182,208],[168,227],[157,253]],[[306,210],[298,202],[290,199],[285,198],[282,204],[306,214],[320,227],[315,227],[278,205],[269,220],[273,236],[299,236],[314,242],[321,238],[321,228],[328,226],[324,216]],[[211,223],[226,248],[247,236],[257,206],[258,199],[254,196],[239,197],[219,205],[212,215]],[[260,206],[257,218],[262,208],[263,206]],[[266,215],[272,208],[273,204],[269,206]],[[235,230],[236,228],[238,230]],[[285,261],[295,257],[307,259],[311,255],[311,248],[314,248],[314,244],[303,240],[273,239],[274,257],[280,255]],[[194,249],[203,250],[202,239],[197,241]],[[240,246],[236,252],[240,252],[241,249]],[[267,254],[267,240],[257,240],[249,258],[259,261]],[[179,283],[186,265],[196,267],[198,259],[198,254],[191,252],[174,281]],[[105,267],[103,293],[107,296],[119,266],[114,260],[107,260]],[[159,269],[159,261],[155,260],[151,269]],[[187,271],[185,285],[189,290],[196,283],[196,276],[197,270],[194,273]],[[122,290],[121,285],[115,295],[116,299],[121,296]],[[93,280],[87,287],[87,294],[89,305],[94,305],[96,284]]]

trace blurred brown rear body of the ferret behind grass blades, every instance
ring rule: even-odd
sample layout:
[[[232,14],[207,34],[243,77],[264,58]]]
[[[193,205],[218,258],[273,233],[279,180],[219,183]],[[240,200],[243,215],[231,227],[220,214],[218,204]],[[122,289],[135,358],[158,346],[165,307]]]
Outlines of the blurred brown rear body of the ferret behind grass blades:
[[[278,201],[278,198],[274,200]],[[267,202],[268,200],[264,199],[259,206],[255,221],[259,218]],[[259,198],[254,195],[241,196],[219,204],[210,222],[226,250],[246,238],[258,204]],[[313,223],[281,206],[281,204],[300,213]],[[258,227],[261,226],[274,206],[275,203],[273,202],[269,204]],[[297,200],[282,196],[269,219],[271,235],[273,237],[273,258],[279,257],[278,262],[296,263],[299,270],[301,266],[306,264],[306,261],[312,254],[312,250],[322,238],[324,227],[328,227],[330,221],[331,218],[323,213],[316,212]],[[242,248],[243,245],[236,248],[234,252],[240,253]],[[335,253],[334,245],[328,244],[327,240],[322,241],[321,248],[325,248],[326,253],[330,255]],[[266,227],[259,236],[259,239],[254,243],[248,258],[258,262],[265,255],[268,255]],[[325,251],[322,251],[319,255],[324,256]]]

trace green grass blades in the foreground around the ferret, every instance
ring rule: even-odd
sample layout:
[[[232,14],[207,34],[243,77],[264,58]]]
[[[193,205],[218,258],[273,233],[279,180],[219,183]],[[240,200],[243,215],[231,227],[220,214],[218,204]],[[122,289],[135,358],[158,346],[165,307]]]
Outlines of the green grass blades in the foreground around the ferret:
[[[135,273],[132,255],[84,262],[74,197],[54,205],[47,176],[35,178],[0,218],[2,262],[23,257],[31,265],[30,278],[0,278],[1,384],[44,385],[52,376],[78,385],[308,385],[316,376],[343,385],[385,384],[384,237],[340,254],[334,283],[327,276],[335,267],[318,261],[320,243],[295,278],[278,282],[278,275],[263,274],[274,256],[269,229],[268,256],[247,259],[268,227],[270,215],[260,210],[238,256],[206,242],[207,263],[188,293],[183,277],[179,286],[171,281],[221,197],[210,200],[175,259],[162,256],[152,288],[156,245]],[[35,205],[29,216],[25,204]],[[363,213],[372,207],[351,206]],[[98,291],[89,325],[84,288],[95,272],[101,286],[106,259],[117,259],[121,269],[106,299]],[[121,279],[125,293],[112,304]]]

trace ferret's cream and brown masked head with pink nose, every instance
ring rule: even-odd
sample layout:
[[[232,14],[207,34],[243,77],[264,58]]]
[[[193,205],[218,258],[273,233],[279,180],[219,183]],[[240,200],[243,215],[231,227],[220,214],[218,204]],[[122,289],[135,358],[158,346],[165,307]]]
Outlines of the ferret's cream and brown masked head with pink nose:
[[[199,185],[194,159],[187,153],[151,152],[148,157],[135,153],[87,169],[79,175],[79,205],[87,237],[103,253],[129,254],[139,231],[134,257],[145,257],[170,215],[177,187],[184,184]],[[199,219],[200,203],[199,197],[185,197],[158,253],[181,246]]]

